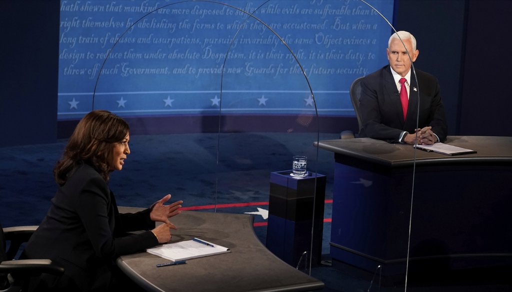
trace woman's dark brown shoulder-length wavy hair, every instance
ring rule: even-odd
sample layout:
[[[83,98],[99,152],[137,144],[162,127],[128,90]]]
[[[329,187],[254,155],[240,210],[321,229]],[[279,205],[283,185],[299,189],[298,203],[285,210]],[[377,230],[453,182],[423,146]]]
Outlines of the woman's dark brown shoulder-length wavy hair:
[[[128,124],[109,111],[88,113],[78,122],[53,169],[55,181],[59,185],[65,184],[69,173],[82,161],[92,165],[108,181],[111,172],[108,158],[112,155],[113,145],[122,141],[129,132]]]

